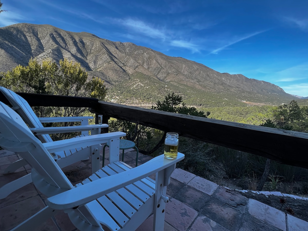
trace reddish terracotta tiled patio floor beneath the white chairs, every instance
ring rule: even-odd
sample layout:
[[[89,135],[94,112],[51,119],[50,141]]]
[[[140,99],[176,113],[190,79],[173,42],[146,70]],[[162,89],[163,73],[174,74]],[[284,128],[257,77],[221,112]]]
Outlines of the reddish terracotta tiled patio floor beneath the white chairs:
[[[151,158],[139,153],[140,164]],[[18,155],[14,152],[0,150],[0,187],[31,172],[30,166],[27,165],[19,168],[15,173],[2,174],[10,163],[18,159]],[[108,155],[106,155],[105,164],[108,164],[107,159]],[[124,162],[135,167],[136,152],[133,149],[126,150]],[[64,168],[63,171],[73,184],[79,183],[91,175],[91,161],[80,161]],[[154,179],[155,175],[151,177]],[[166,205],[164,230],[308,230],[306,221],[259,201],[248,199],[179,168],[172,173],[167,194],[171,199]],[[46,197],[38,192],[33,184],[28,184],[0,200],[0,230],[10,230],[43,209],[46,206],[45,199]],[[152,221],[153,215],[148,217],[137,230],[152,230]],[[60,212],[36,230],[75,231],[77,229],[71,224],[67,214]]]

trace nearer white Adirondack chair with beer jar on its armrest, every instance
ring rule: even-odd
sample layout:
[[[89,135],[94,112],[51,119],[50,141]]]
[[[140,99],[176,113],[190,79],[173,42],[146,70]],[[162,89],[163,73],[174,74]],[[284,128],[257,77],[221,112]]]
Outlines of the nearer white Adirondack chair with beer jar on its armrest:
[[[114,132],[41,143],[20,116],[0,102],[0,146],[18,152],[32,167],[33,183],[47,197],[47,206],[12,230],[31,230],[59,210],[79,230],[135,230],[154,210],[153,230],[164,230],[166,188],[176,162],[157,156],[136,168],[119,161],[120,136]],[[110,144],[110,164],[74,187],[49,152],[88,146],[103,140]],[[156,172],[156,181],[147,177]],[[145,177],[145,178],[144,178]]]

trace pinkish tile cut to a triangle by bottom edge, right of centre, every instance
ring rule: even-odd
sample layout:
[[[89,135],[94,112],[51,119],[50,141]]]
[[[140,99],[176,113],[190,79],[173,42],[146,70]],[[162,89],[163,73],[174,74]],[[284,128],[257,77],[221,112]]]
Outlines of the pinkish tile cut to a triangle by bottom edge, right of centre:
[[[219,225],[215,221],[212,221],[208,217],[200,215],[194,221],[193,225],[190,227],[189,231],[229,231],[222,225]]]

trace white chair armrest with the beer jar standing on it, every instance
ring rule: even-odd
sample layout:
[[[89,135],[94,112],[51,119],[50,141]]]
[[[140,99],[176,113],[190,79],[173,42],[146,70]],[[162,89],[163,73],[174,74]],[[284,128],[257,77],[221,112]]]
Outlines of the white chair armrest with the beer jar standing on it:
[[[54,209],[71,209],[76,206],[85,205],[103,195],[168,168],[183,159],[184,154],[182,153],[178,153],[177,158],[174,160],[168,160],[164,158],[164,155],[160,155],[136,168],[103,177],[64,193],[49,197],[47,198],[47,204]]]

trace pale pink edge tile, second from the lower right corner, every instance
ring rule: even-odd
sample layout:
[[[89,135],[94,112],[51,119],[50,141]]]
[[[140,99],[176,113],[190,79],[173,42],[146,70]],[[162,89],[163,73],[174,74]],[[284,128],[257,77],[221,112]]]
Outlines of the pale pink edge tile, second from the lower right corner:
[[[286,215],[278,209],[265,205],[259,201],[249,199],[248,212],[251,216],[261,221],[273,225],[278,229],[286,230]]]

